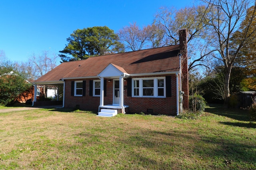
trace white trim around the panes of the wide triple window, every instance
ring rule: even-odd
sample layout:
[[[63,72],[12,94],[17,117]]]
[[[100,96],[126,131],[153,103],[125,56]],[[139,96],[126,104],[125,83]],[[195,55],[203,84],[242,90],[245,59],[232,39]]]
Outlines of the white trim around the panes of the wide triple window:
[[[158,80],[164,80],[164,96],[158,96]],[[139,80],[139,96],[134,96],[134,80]],[[153,80],[153,96],[143,96],[143,80]],[[165,77],[145,77],[145,78],[132,78],[132,97],[135,98],[166,98],[166,78]]]

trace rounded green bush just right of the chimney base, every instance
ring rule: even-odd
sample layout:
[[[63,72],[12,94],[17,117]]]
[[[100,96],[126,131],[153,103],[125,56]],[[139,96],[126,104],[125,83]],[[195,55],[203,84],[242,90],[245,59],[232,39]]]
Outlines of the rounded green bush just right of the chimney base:
[[[191,111],[204,111],[206,107],[206,102],[204,98],[200,95],[189,96],[188,98],[188,108]]]

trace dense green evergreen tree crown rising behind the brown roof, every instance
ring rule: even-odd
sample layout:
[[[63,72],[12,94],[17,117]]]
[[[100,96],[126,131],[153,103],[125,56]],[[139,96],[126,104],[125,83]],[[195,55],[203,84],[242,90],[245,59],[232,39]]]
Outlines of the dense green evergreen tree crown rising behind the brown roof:
[[[107,26],[76,29],[67,38],[68,45],[59,51],[62,53],[59,56],[65,62],[108,53],[120,53],[124,51],[124,46],[118,40],[118,35]]]

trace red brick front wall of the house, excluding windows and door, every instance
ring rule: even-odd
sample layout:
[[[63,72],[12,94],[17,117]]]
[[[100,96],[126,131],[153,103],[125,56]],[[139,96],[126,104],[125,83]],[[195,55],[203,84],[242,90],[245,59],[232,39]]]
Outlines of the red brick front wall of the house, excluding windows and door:
[[[161,75],[166,76],[166,75]],[[152,109],[153,113],[150,114],[165,114],[165,115],[176,115],[176,75],[171,75],[171,88],[172,96],[167,98],[135,98],[127,97],[127,82],[124,82],[124,104],[129,107],[125,111],[131,113],[147,113],[147,109]],[[149,77],[149,76],[145,76]],[[158,77],[158,76],[150,76]],[[135,78],[135,77],[133,77]],[[86,79],[86,96],[78,97],[71,96],[71,81],[76,80],[65,80],[65,107],[75,108],[79,105],[80,109],[95,110],[98,111],[100,105],[100,97],[89,96],[89,82],[92,79]],[[113,103],[113,80],[108,82],[107,79],[107,95],[104,97],[104,105]]]

